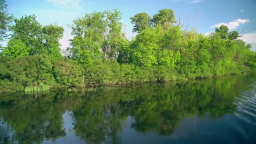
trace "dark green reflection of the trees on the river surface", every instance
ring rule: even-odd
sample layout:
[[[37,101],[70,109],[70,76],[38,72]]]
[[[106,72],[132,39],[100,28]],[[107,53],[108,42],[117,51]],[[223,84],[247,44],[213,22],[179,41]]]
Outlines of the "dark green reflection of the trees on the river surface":
[[[234,114],[234,99],[249,78],[5,94],[0,97],[0,141],[31,144],[64,137],[69,132],[64,128],[67,111],[75,136],[87,143],[121,143],[120,133],[129,116],[137,132],[171,135],[186,117],[217,119]]]

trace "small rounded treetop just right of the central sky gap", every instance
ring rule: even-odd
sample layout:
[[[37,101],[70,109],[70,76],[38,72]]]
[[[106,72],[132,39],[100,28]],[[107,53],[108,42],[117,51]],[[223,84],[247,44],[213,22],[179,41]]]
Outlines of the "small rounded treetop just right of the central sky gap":
[[[134,24],[133,32],[141,32],[151,26],[151,17],[147,13],[137,13],[131,17],[131,23]]]

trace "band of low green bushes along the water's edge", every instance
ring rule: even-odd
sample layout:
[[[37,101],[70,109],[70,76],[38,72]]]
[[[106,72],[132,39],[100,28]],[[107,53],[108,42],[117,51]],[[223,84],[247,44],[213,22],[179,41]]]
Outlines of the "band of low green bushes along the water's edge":
[[[211,71],[182,72],[176,67],[138,67],[115,60],[97,61],[90,66],[72,60],[50,61],[45,56],[17,59],[0,57],[0,92],[86,89],[109,85],[137,85],[177,80],[195,80],[224,75],[239,75],[249,67],[227,67],[217,74]]]

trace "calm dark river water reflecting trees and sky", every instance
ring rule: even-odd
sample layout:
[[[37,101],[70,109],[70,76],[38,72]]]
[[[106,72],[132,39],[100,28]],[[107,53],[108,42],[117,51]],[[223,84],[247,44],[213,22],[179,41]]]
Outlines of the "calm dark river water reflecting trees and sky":
[[[256,74],[1,94],[0,143],[256,144]]]

